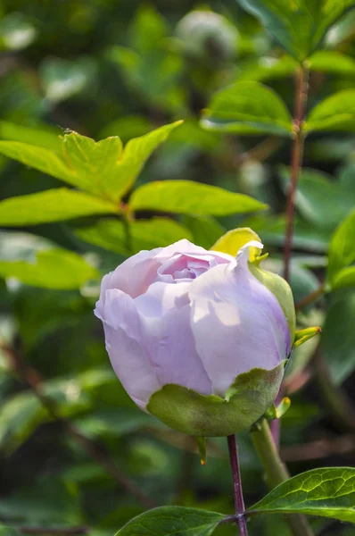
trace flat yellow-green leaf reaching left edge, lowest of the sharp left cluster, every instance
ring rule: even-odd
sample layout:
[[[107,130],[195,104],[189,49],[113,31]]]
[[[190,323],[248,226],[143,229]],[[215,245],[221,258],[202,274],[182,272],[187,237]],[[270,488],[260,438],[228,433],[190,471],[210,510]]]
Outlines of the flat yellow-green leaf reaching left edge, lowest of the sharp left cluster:
[[[114,214],[119,207],[110,201],[68,188],[54,188],[4,199],[0,202],[0,225],[22,226],[61,222],[91,214]]]

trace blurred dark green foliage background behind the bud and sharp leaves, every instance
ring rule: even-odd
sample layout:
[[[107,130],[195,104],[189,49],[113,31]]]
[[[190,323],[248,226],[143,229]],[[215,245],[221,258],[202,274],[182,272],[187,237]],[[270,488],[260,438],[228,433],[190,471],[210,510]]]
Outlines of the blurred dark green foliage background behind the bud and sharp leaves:
[[[326,50],[345,54],[347,62],[332,61],[332,55],[318,60],[310,73],[310,106],[354,87],[354,35],[352,10],[326,36]],[[33,137],[42,137],[41,143],[65,130],[96,140],[120,136],[126,143],[184,119],[144,166],[137,185],[194,180],[267,203],[270,210],[261,215],[164,215],[203,247],[211,247],[224,230],[251,226],[273,254],[266,267],[280,272],[291,140],[223,135],[202,130],[199,119],[213,93],[235,80],[265,82],[292,111],[293,67],[284,54],[235,0],[2,0],[0,138],[18,138],[17,124],[35,128]],[[0,156],[1,199],[60,185]],[[354,205],[353,135],[311,135],[296,197],[291,277],[296,302],[323,281],[329,240]],[[37,251],[62,247],[107,272],[126,257],[127,247],[117,236],[101,243],[79,236],[80,226],[97,221],[6,227],[0,232],[1,260],[31,262]],[[169,242],[163,230],[151,232],[154,236],[137,240],[138,249]],[[22,284],[11,274],[0,280],[0,521],[21,533],[80,525],[108,536],[146,509],[140,493],[155,505],[231,513],[225,440],[208,441],[202,467],[194,440],[139,412],[111,372],[93,314],[98,284],[94,278],[60,290]],[[292,406],[283,419],[281,452],[291,473],[355,463],[354,322],[353,288],[335,290],[299,315],[300,327],[321,325],[323,333],[297,350],[288,371]],[[54,400],[54,412],[26,378]],[[73,430],[88,443],[80,443]],[[240,450],[245,500],[252,504],[266,484],[246,434]],[[112,477],[102,458],[119,474]],[[249,524],[255,536],[289,533],[283,518]],[[323,535],[353,533],[331,520],[316,520],[314,527]]]

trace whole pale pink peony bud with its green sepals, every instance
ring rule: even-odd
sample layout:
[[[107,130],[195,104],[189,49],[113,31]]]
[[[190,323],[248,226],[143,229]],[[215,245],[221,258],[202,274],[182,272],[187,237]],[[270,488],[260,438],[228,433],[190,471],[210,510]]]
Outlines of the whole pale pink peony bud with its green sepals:
[[[249,262],[261,248],[253,240],[235,258],[180,240],[103,277],[95,314],[137,406],[197,436],[248,429],[271,406],[294,306],[282,278]]]

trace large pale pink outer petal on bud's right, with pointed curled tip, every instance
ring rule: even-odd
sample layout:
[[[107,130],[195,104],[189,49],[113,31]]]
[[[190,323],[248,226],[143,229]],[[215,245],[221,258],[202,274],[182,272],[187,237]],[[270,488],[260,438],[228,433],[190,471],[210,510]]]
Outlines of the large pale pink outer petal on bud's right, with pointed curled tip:
[[[203,273],[189,288],[197,352],[212,392],[220,396],[235,376],[255,367],[269,370],[289,350],[285,314],[277,298],[252,276],[248,255],[246,246],[235,262]]]

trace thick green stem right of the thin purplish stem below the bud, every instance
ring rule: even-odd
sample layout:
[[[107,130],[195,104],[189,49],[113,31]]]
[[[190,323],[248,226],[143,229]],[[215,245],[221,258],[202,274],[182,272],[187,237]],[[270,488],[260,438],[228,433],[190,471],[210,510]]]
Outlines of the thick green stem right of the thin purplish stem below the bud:
[[[252,429],[252,442],[264,467],[269,488],[275,488],[278,484],[288,480],[290,475],[278,454],[266,419]],[[304,515],[287,515],[286,520],[293,536],[313,536]]]

